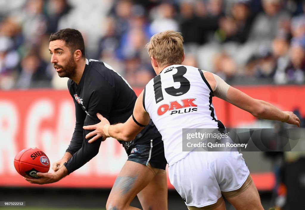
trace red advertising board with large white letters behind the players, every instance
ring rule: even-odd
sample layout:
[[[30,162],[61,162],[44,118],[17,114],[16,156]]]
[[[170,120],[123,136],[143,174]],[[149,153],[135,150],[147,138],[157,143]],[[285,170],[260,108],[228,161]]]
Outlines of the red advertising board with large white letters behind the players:
[[[283,110],[298,109],[305,116],[305,86],[238,88]],[[139,94],[142,89],[135,91]],[[220,99],[213,99],[213,103],[217,117],[226,126],[234,127],[256,120],[251,114]],[[74,131],[74,111],[73,99],[67,90],[0,92],[0,187],[36,186],[23,180],[16,172],[15,155],[22,149],[38,147],[47,154],[51,163],[61,159]],[[110,188],[126,159],[123,147],[115,139],[107,139],[91,161],[63,180],[45,186]],[[252,177],[258,189],[270,190],[274,184],[272,173],[254,173]],[[170,184],[169,187],[172,188]]]

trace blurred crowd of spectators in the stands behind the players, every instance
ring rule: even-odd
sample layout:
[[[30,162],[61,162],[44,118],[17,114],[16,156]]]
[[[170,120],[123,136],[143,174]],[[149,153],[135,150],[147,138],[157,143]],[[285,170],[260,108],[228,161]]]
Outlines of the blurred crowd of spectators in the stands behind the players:
[[[62,28],[132,86],[155,76],[144,46],[167,29],[184,37],[184,65],[229,84],[305,83],[302,0],[0,0],[0,89],[66,88],[48,51]]]

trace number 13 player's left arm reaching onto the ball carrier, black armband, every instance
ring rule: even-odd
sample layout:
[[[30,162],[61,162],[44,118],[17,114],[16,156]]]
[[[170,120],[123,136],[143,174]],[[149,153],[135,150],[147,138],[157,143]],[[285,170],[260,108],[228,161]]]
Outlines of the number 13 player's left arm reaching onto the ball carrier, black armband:
[[[98,113],[97,116],[101,120],[100,123],[83,127],[85,130],[94,130],[86,135],[87,139],[95,135],[89,140],[89,143],[100,137],[113,137],[122,141],[131,141],[150,120],[149,114],[143,107],[143,91],[135,102],[133,115],[125,123],[110,125],[109,121],[101,114]]]

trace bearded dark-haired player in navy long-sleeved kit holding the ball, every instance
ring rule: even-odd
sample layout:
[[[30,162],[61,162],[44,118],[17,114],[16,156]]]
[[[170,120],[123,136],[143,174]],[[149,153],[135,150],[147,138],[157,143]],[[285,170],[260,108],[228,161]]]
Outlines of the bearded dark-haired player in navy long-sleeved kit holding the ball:
[[[55,173],[37,173],[34,184],[57,182],[97,155],[101,142],[92,144],[85,125],[96,124],[102,113],[112,124],[131,116],[137,96],[127,81],[104,62],[86,59],[84,40],[75,29],[63,29],[50,36],[51,62],[60,77],[68,77],[68,89],[75,104],[76,124],[64,156],[53,163]],[[130,142],[119,141],[128,159],[118,174],[107,200],[107,209],[137,209],[130,202],[137,195],[143,209],[167,209],[167,176],[163,141],[152,121]],[[103,160],[107,161],[107,160]]]

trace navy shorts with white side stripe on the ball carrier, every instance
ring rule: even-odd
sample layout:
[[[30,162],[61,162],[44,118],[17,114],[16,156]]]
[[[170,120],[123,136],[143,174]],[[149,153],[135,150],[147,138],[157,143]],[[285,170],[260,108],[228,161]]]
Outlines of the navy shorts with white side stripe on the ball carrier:
[[[130,161],[141,163],[145,166],[150,163],[154,168],[165,170],[167,161],[164,156],[162,137],[151,139],[150,142],[134,144],[127,149]]]

